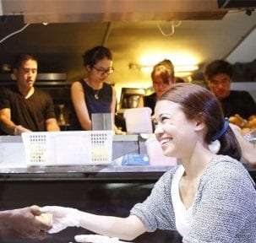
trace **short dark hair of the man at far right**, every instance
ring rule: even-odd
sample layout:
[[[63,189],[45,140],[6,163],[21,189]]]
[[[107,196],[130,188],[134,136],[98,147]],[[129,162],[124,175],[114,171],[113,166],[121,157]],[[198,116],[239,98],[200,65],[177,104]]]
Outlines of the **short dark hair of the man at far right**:
[[[204,78],[210,80],[213,76],[220,73],[225,73],[231,78],[233,74],[232,65],[223,60],[210,62],[210,64],[205,67]]]

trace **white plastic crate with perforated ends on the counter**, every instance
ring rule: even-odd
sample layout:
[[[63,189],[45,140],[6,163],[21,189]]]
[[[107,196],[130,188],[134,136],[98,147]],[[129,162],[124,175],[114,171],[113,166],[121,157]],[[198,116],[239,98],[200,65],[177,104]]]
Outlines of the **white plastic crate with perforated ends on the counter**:
[[[109,165],[112,131],[23,132],[28,166]]]

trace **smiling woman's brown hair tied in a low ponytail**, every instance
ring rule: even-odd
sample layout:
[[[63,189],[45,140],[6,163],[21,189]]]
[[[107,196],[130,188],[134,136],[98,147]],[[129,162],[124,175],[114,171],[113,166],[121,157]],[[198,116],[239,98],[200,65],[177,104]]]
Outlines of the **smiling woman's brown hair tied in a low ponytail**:
[[[211,138],[224,126],[221,103],[208,89],[197,84],[175,84],[158,100],[169,100],[181,105],[188,120],[199,118],[204,121],[207,127],[204,138],[206,143],[210,143]],[[237,160],[241,159],[241,148],[231,127],[228,127],[218,140],[221,143],[218,154],[229,155]]]

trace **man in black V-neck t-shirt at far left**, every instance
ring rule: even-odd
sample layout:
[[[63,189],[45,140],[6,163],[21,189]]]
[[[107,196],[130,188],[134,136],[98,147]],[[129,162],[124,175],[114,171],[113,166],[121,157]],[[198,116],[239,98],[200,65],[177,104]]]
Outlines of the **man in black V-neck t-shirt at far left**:
[[[37,63],[30,54],[20,55],[13,67],[15,87],[0,92],[0,122],[5,134],[60,130],[51,96],[34,87]]]

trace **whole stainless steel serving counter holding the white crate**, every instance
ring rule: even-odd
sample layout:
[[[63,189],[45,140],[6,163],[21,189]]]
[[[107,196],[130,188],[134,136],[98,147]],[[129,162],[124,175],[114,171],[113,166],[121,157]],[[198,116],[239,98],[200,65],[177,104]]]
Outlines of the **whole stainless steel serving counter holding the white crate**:
[[[133,144],[133,146],[131,146]],[[141,147],[141,146],[140,146]],[[118,151],[119,154],[115,151]],[[113,138],[111,165],[31,166],[25,163],[25,151],[19,136],[0,136],[0,180],[110,180],[156,181],[170,166],[122,165],[122,155],[139,154],[138,135],[117,135]],[[245,165],[255,180],[256,167]]]

